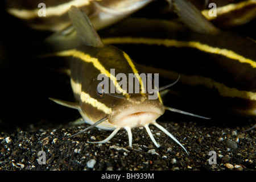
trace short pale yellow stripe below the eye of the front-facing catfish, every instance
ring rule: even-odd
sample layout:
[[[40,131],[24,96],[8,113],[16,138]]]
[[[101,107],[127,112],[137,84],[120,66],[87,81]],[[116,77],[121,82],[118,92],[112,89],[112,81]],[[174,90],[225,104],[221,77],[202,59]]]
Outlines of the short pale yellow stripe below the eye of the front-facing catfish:
[[[105,104],[102,104],[101,102],[98,102],[96,99],[89,96],[89,94],[85,92],[81,92],[81,101],[85,102],[87,104],[92,105],[93,107],[97,107],[98,110],[104,111],[106,114],[112,113],[112,109],[107,107]]]

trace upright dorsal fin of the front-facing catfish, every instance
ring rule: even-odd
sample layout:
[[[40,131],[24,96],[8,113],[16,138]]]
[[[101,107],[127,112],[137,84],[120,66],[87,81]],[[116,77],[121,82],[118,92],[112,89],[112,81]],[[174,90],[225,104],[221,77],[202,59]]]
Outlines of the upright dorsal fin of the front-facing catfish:
[[[71,22],[77,31],[77,36],[82,39],[87,46],[101,47],[100,36],[98,36],[88,16],[76,6],[71,6],[68,11]]]

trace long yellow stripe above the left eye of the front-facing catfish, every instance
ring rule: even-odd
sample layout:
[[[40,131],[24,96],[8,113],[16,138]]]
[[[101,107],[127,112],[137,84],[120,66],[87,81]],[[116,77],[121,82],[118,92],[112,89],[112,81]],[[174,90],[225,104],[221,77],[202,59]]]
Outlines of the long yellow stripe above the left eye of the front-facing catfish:
[[[73,56],[73,57],[77,57],[87,63],[93,63],[95,68],[97,68],[102,74],[108,76],[110,78],[110,80],[112,80],[113,84],[115,85],[115,88],[117,88],[119,92],[121,92],[123,94],[126,93],[126,90],[123,90],[119,86],[117,79],[104,68],[104,66],[98,61],[97,58],[90,57],[90,55],[86,55],[84,52],[77,51],[76,49],[70,49],[67,51],[57,52],[57,53],[55,53],[55,55],[56,56]]]

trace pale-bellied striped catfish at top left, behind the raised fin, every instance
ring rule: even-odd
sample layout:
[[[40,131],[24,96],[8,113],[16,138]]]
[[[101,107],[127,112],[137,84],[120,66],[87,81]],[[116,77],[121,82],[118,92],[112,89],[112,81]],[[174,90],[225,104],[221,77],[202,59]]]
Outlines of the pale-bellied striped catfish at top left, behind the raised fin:
[[[96,30],[146,6],[152,0],[61,0],[61,1],[5,1],[7,13],[27,26],[42,31],[62,31],[71,25],[68,10],[79,7],[90,18]]]

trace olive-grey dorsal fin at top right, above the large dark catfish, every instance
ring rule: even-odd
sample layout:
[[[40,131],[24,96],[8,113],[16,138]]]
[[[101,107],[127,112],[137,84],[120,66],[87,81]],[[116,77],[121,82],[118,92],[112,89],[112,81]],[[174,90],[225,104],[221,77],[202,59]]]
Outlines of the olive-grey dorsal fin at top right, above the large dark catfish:
[[[186,0],[174,0],[175,11],[182,22],[191,30],[203,34],[217,34],[219,32],[212,23],[194,6]]]

